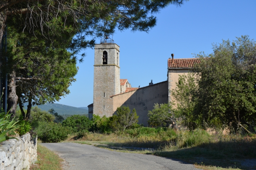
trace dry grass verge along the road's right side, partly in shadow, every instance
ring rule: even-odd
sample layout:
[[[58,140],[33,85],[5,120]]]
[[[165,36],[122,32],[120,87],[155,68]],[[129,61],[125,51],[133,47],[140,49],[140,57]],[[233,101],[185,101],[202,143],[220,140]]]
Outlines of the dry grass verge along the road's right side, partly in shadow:
[[[209,135],[200,129],[176,132],[173,136],[167,134],[87,133],[82,139],[73,142],[121,152],[176,158],[205,170],[256,169],[256,161],[245,163],[245,160],[256,158],[255,135]]]

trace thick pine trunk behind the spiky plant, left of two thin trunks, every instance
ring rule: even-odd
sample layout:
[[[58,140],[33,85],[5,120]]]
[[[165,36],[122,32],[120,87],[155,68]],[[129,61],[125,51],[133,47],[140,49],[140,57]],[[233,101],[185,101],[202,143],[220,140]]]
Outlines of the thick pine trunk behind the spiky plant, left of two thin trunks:
[[[12,114],[12,117],[14,117],[18,102],[18,95],[16,94],[16,74],[12,71],[9,76],[7,111],[9,111],[9,114]]]

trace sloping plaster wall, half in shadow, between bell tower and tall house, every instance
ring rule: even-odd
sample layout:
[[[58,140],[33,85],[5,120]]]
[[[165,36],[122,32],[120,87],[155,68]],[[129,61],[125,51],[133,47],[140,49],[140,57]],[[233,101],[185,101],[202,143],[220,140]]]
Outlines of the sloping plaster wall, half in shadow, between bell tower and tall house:
[[[151,86],[122,93],[111,97],[113,100],[113,114],[117,107],[129,106],[130,110],[136,109],[139,115],[139,124],[148,125],[148,111],[153,109],[155,103],[163,104],[168,102],[168,81],[156,83]]]

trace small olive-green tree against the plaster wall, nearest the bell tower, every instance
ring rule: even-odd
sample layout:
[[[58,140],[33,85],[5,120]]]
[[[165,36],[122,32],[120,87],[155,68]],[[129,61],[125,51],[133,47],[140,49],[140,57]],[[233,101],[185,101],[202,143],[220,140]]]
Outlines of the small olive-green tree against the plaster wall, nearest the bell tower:
[[[139,116],[137,116],[135,108],[133,109],[132,113],[130,112],[131,111],[128,106],[121,106],[117,107],[116,109],[117,120],[123,130],[125,130],[129,126],[133,126],[139,121]]]

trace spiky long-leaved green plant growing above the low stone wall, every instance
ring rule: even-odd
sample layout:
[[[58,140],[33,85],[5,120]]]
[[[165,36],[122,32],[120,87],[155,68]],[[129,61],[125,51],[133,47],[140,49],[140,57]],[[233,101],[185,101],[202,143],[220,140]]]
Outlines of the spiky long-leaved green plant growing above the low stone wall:
[[[19,120],[11,118],[11,114],[5,114],[5,112],[0,113],[0,142],[4,142],[8,139],[16,139],[15,137],[9,137],[8,133],[18,130],[20,128],[18,123]]]

